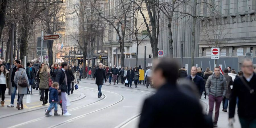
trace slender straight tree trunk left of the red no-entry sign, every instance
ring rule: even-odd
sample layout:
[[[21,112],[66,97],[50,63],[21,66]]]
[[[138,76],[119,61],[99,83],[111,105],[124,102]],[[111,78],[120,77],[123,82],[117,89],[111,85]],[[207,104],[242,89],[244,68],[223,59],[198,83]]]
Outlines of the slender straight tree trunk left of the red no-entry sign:
[[[195,26],[196,26],[197,0],[193,3],[193,24],[192,24],[192,43],[191,43],[191,66],[194,66],[195,61]]]

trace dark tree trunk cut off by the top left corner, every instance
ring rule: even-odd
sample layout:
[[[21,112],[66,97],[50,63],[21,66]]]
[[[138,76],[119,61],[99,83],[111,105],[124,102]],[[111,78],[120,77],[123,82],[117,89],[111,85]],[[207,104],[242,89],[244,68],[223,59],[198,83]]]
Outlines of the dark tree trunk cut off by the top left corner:
[[[1,8],[0,8],[0,40],[2,36],[2,31],[5,26],[5,13],[6,13],[6,8],[8,5],[9,0],[1,0]],[[8,60],[6,60],[8,61]]]

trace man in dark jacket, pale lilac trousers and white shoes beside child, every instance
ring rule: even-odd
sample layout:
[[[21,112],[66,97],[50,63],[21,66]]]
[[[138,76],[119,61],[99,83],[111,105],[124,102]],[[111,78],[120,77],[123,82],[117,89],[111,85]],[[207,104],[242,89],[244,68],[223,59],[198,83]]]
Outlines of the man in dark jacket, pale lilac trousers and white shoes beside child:
[[[67,111],[67,98],[66,98],[66,92],[67,92],[67,75],[66,71],[68,70],[68,64],[67,62],[61,63],[61,69],[58,70],[56,77],[55,77],[55,82],[59,83],[59,90],[58,92],[61,92],[61,106],[63,110],[63,115],[64,116],[71,116],[71,114]],[[59,99],[60,101],[60,99]]]

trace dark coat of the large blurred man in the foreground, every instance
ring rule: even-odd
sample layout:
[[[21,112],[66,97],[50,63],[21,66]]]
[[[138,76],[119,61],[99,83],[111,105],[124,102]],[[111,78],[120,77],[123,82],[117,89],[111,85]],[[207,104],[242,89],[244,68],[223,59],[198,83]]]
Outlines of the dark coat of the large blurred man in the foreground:
[[[182,110],[182,114],[177,110]],[[206,120],[202,111],[191,91],[167,83],[144,101],[139,127],[213,127],[211,119]]]

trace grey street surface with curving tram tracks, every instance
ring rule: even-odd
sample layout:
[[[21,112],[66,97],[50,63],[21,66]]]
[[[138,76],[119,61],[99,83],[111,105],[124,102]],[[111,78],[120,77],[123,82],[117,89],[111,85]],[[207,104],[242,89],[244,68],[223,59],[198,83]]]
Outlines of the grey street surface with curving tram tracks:
[[[25,104],[26,96],[24,97],[24,110],[7,108],[10,96],[6,94],[6,105],[0,107],[1,127],[138,127],[143,101],[156,90],[143,85],[128,88],[123,84],[108,85],[107,82],[102,86],[103,96],[98,98],[94,82],[82,79],[79,89],[69,96],[71,106],[68,107],[68,111],[72,114],[70,117],[45,117],[44,110],[49,104],[40,105],[42,102],[39,101],[37,90],[34,90],[31,96],[32,103]],[[202,99],[201,103],[204,112],[207,112],[208,97]],[[60,108],[58,112],[61,114]],[[237,114],[235,119],[235,127],[240,127]],[[218,126],[228,127],[228,113],[220,110]]]

